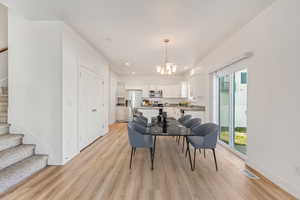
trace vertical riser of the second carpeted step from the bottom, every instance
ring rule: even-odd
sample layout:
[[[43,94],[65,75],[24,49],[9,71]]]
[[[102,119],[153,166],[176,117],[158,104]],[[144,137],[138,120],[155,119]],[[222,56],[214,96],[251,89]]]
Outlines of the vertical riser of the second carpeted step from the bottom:
[[[18,151],[9,152],[4,156],[0,156],[0,170],[21,160],[24,160],[34,154],[34,145],[26,146],[26,148],[19,149]]]

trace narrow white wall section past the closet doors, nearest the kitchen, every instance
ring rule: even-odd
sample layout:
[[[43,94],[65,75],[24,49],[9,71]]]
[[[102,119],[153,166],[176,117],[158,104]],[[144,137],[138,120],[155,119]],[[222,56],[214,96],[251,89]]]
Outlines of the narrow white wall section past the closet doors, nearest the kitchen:
[[[110,71],[110,108],[109,108],[109,124],[116,122],[116,104],[117,104],[117,87],[118,76],[113,71]]]

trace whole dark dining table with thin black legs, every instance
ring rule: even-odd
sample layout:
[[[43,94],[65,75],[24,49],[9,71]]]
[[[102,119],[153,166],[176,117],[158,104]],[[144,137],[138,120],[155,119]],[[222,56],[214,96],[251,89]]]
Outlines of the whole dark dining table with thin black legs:
[[[156,148],[156,139],[159,136],[182,136],[186,140],[187,144],[187,154],[190,161],[191,170],[193,170],[192,166],[192,158],[190,153],[190,147],[188,143],[188,136],[196,136],[194,132],[191,131],[190,128],[186,128],[179,121],[174,118],[167,118],[165,122],[158,122],[157,120],[152,120],[152,123],[147,128],[147,131],[143,133],[144,135],[151,135],[154,137],[154,146],[153,146],[153,158]]]

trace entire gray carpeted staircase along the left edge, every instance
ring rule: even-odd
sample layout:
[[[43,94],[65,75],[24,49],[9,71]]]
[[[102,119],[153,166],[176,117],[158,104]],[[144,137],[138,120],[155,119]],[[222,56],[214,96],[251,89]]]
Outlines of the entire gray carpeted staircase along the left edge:
[[[35,145],[23,144],[24,135],[9,134],[7,108],[7,88],[0,88],[0,195],[48,163],[48,156],[35,154]]]

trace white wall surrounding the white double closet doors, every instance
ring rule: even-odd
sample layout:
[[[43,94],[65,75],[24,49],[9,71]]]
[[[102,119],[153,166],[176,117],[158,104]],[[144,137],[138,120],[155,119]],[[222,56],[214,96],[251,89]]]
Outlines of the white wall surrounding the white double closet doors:
[[[63,28],[63,162],[79,153],[78,149],[78,68],[84,66],[104,80],[109,94],[108,62],[70,27]],[[105,133],[108,131],[109,95],[104,96]],[[101,133],[101,134],[105,134]],[[75,135],[75,137],[74,137]]]

